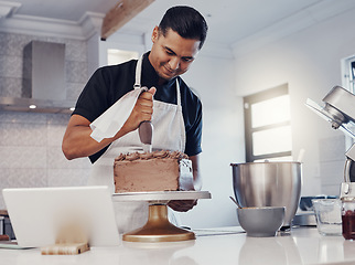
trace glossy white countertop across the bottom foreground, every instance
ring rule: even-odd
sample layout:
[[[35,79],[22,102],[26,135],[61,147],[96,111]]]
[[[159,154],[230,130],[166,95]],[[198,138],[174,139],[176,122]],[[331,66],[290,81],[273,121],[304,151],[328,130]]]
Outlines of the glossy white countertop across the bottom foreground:
[[[39,248],[1,248],[0,261],[7,265],[355,264],[355,242],[322,236],[315,227],[297,227],[275,237],[248,237],[240,231],[238,226],[196,230],[195,241],[121,242],[117,247],[92,247],[68,256],[41,255]]]

